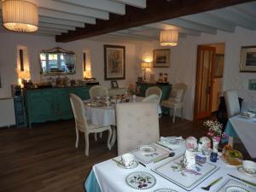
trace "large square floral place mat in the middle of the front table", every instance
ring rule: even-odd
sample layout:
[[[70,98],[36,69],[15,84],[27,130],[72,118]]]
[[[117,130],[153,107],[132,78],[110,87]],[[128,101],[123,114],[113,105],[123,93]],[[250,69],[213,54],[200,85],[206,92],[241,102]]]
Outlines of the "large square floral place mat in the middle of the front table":
[[[182,161],[183,155],[156,166],[152,171],[183,189],[192,190],[219,169],[218,166],[207,162],[202,166],[195,165],[196,171],[188,170],[183,166]]]

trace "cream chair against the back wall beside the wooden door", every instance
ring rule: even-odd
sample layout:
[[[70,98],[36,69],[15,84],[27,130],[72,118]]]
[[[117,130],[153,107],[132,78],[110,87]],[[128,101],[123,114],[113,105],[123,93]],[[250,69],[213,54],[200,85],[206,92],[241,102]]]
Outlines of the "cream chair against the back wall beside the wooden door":
[[[173,109],[172,123],[175,123],[177,109],[181,110],[181,117],[183,119],[183,100],[188,89],[187,84],[175,84],[171,91],[171,96],[168,100],[162,101],[160,106]]]

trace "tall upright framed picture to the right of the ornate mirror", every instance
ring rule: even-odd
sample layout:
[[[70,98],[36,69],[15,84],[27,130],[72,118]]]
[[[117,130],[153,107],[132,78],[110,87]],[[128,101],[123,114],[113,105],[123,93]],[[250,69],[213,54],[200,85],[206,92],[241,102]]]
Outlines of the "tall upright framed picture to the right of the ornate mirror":
[[[125,46],[104,45],[105,80],[125,79]]]

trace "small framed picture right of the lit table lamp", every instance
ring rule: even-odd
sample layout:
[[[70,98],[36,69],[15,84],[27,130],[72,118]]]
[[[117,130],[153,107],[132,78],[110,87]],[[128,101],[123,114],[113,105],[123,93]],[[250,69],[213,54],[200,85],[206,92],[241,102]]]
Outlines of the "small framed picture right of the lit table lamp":
[[[154,49],[153,67],[170,67],[170,49]]]

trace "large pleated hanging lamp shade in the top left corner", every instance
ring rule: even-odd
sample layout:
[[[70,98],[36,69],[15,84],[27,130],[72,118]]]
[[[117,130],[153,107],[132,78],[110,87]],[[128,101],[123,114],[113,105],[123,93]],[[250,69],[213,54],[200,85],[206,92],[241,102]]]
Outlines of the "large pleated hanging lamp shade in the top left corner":
[[[22,0],[3,1],[3,26],[15,32],[37,31],[37,5]]]

